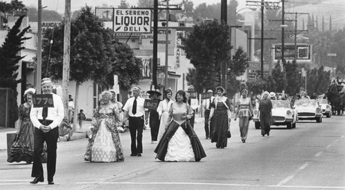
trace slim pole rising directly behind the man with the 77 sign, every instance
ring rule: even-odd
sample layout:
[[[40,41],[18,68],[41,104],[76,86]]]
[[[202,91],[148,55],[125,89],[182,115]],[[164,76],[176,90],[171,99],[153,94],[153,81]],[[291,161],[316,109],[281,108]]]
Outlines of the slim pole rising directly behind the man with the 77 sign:
[[[37,31],[37,68],[36,68],[36,90],[37,94],[41,94],[41,78],[42,78],[42,0],[39,0],[37,11],[38,31]]]

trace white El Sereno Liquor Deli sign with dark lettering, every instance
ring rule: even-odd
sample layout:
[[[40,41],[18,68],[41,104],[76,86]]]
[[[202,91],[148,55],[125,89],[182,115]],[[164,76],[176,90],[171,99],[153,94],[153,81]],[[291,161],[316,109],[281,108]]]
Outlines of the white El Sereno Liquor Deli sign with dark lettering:
[[[149,9],[115,9],[115,32],[151,32],[151,11]]]

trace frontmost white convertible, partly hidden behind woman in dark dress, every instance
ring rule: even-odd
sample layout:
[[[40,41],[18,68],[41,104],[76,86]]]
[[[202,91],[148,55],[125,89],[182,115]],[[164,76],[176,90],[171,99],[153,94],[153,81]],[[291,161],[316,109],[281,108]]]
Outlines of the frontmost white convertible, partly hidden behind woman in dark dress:
[[[291,129],[296,127],[297,111],[291,108],[291,104],[286,100],[271,100],[272,102],[272,117],[273,125],[286,125],[286,128]],[[255,129],[260,129],[259,110],[255,109],[253,115],[253,122],[255,122]]]

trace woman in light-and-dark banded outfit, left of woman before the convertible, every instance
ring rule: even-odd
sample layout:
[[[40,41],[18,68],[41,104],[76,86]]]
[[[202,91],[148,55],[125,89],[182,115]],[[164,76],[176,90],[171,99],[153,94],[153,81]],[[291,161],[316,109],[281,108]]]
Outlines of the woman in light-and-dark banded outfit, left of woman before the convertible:
[[[248,126],[251,117],[253,116],[253,106],[250,102],[250,98],[247,97],[248,91],[246,89],[242,90],[242,98],[239,99],[237,104],[237,113],[235,116],[235,121],[237,116],[239,117],[239,132],[241,133],[242,142],[245,143],[248,134]]]

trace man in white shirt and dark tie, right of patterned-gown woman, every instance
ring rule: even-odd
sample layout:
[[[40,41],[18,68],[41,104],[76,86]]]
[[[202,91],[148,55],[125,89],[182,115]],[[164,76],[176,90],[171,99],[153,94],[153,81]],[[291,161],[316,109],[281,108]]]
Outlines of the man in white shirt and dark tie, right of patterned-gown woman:
[[[124,105],[124,118],[128,120],[130,130],[130,156],[141,156],[143,153],[145,99],[139,97],[140,90],[138,86],[135,86],[132,90],[133,97],[130,97]]]

